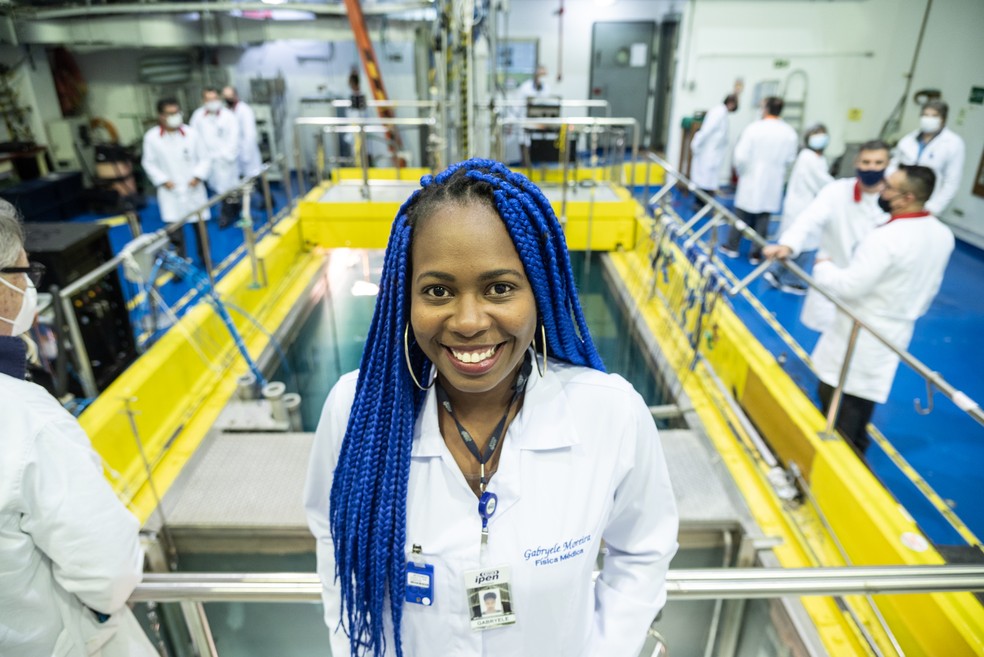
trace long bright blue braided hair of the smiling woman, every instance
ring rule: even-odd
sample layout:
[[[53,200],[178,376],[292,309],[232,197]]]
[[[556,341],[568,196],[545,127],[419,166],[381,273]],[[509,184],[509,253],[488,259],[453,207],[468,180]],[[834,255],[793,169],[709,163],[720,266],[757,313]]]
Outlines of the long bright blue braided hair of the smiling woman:
[[[397,655],[403,654],[407,482],[414,424],[426,396],[411,379],[403,354],[414,227],[447,203],[485,203],[494,209],[526,269],[550,356],[604,371],[581,311],[563,229],[543,192],[525,176],[483,159],[459,162],[437,176],[424,176],[420,184],[390,232],[331,488],[335,576],[353,657],[385,651],[387,595],[392,640]],[[415,347],[411,342],[414,375],[427,382],[431,363]]]

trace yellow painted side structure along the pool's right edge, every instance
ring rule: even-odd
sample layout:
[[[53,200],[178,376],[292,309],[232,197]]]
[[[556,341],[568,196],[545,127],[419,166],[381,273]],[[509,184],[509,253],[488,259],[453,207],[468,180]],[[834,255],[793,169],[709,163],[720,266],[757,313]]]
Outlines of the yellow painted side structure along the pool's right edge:
[[[637,233],[649,235],[651,224],[644,220]],[[922,536],[911,517],[844,441],[820,438],[823,416],[723,300],[704,320],[699,338],[703,359],[685,375],[694,358],[687,332],[695,330],[697,313],[686,315],[682,328],[677,318],[689,293],[685,281],[696,284],[698,276],[680,249],[669,241],[664,247],[672,254],[666,259],[666,280],[660,266],[655,272],[652,268],[654,245],[648,238],[611,258],[664,356],[680,375],[684,392],[756,522],[766,535],[782,538],[774,550],[781,565],[848,564],[809,504],[792,507],[773,493],[765,476],[768,468],[753,455],[749,438],[721,399],[713,376],[732,392],[776,456],[800,467],[851,565],[945,563],[932,547],[920,551],[907,546],[904,537]],[[984,608],[973,595],[877,596],[876,601],[907,656],[984,655]],[[894,654],[867,600],[852,596],[847,603],[879,647]],[[803,604],[830,654],[868,654],[853,620],[833,599],[809,597]]]

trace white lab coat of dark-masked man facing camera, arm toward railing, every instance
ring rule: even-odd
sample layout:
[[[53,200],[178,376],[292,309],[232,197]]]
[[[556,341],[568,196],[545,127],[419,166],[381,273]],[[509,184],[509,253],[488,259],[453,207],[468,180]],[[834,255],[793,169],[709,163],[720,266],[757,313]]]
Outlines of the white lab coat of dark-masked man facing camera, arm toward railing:
[[[789,228],[779,236],[779,244],[793,255],[819,248],[817,257],[830,258],[837,267],[847,267],[854,249],[877,226],[888,221],[878,207],[878,194],[864,194],[857,178],[840,178],[820,190]],[[837,307],[810,289],[803,300],[800,321],[814,331],[825,331],[834,321]]]

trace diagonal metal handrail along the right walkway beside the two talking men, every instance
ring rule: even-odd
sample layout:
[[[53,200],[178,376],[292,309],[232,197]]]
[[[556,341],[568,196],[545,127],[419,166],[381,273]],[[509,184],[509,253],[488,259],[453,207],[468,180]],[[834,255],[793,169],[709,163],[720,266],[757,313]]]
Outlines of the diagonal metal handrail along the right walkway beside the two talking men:
[[[723,217],[726,223],[737,227],[737,223],[740,222],[741,220],[738,218],[737,215],[734,214],[734,212],[732,212],[724,205],[722,205],[713,196],[705,193],[702,189],[700,189],[697,185],[695,185],[693,181],[691,181],[687,176],[680,173],[675,167],[673,167],[672,164],[670,164],[663,158],[659,157],[655,153],[647,153],[647,157],[650,160],[652,160],[654,163],[660,165],[666,171],[668,176],[671,176],[673,178],[676,178],[684,182],[687,185],[687,189],[690,191],[690,193],[695,194],[705,204],[712,205],[714,207],[715,214],[718,214],[721,217]],[[670,183],[667,183],[667,188],[671,186],[672,185]],[[659,194],[657,194],[657,196],[659,196]],[[744,228],[741,228],[740,231],[742,233],[742,237],[753,241],[758,246],[766,246],[768,244],[768,242],[765,239],[763,239],[762,236],[760,236],[751,227],[747,225]],[[876,340],[881,342],[890,351],[892,351],[895,355],[897,355],[899,357],[899,360],[901,360],[906,365],[911,367],[913,370],[915,370],[915,372],[919,376],[925,379],[928,386],[938,389],[940,392],[946,395],[946,397],[949,398],[957,408],[959,408],[961,411],[963,411],[971,418],[976,420],[979,424],[984,425],[984,410],[981,409],[980,404],[978,404],[976,401],[971,399],[966,393],[958,390],[956,387],[954,387],[949,382],[947,382],[946,379],[940,376],[938,372],[934,372],[929,367],[927,367],[922,361],[917,359],[915,356],[913,356],[912,354],[910,354],[909,352],[903,349],[899,349],[888,338],[886,338],[881,333],[868,326],[843,301],[837,298],[837,296],[835,296],[832,292],[827,290],[825,287],[817,283],[812,276],[810,276],[805,271],[803,271],[794,262],[789,260],[783,260],[781,262],[791,272],[793,272],[793,274],[795,274],[797,277],[802,279],[803,282],[805,282],[810,288],[815,289],[817,292],[819,292],[828,300],[830,300],[840,312],[850,317],[855,323],[855,328],[863,328],[865,331],[867,331],[872,337],[874,337]],[[762,267],[760,267],[760,269],[762,269]],[[749,282],[751,282],[750,281],[751,278],[752,277],[746,277],[746,279],[742,281],[742,284],[739,284],[738,286],[732,288],[730,291],[731,294],[734,295],[738,291],[740,291],[741,288],[745,287]],[[858,331],[852,332],[852,336],[855,339],[857,337],[857,333]],[[855,340],[851,340],[848,345],[848,354],[853,352],[854,341]],[[849,363],[849,356],[848,356],[848,358],[845,358],[843,369],[846,370],[849,364],[850,363]],[[841,379],[842,379],[841,383],[843,383],[843,377],[841,377]],[[839,385],[835,390],[835,395],[839,397],[840,393],[841,393],[841,386]],[[834,417],[836,417],[837,409],[835,408],[834,404],[831,404],[831,410],[834,412],[828,413],[828,418],[827,418],[828,432],[832,430],[833,427],[832,420]]]

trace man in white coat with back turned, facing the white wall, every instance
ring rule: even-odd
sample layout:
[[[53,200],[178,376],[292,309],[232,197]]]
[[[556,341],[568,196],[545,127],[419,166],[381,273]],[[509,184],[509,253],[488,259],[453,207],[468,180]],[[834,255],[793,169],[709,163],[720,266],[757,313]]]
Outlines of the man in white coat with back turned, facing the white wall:
[[[779,118],[781,98],[769,96],[763,103],[762,118],[746,127],[735,144],[733,160],[738,173],[735,211],[763,239],[769,234],[769,221],[782,206],[782,187],[786,171],[796,158],[796,131]],[[738,257],[741,232],[732,226],[721,252]],[[760,247],[753,245],[749,260],[757,263]]]

